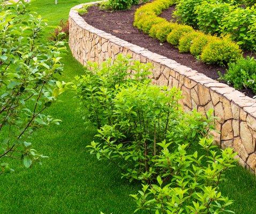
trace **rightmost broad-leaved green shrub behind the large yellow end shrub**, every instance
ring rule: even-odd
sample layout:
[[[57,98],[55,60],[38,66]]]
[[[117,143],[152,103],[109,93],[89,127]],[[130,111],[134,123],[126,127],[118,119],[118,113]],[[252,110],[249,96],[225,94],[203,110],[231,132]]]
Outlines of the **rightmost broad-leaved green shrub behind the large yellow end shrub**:
[[[256,7],[237,7],[225,13],[221,21],[221,32],[230,34],[245,49],[256,47]]]

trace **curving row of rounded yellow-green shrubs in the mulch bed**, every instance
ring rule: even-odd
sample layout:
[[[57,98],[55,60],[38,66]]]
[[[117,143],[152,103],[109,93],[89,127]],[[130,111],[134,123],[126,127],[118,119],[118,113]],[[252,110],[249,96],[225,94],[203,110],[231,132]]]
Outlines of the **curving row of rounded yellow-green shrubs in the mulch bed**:
[[[205,63],[223,65],[242,57],[239,45],[232,42],[229,36],[207,35],[188,25],[158,17],[164,9],[175,3],[175,0],[155,0],[141,6],[135,12],[133,25],[160,42],[169,42],[180,52],[191,52]]]

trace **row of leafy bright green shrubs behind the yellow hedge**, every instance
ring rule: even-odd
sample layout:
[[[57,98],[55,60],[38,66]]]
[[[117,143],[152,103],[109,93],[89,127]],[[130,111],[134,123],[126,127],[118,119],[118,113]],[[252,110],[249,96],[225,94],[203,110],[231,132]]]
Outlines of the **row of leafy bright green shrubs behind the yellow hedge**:
[[[205,33],[226,35],[244,49],[256,50],[256,4],[240,7],[240,1],[180,0],[175,14],[184,24]]]

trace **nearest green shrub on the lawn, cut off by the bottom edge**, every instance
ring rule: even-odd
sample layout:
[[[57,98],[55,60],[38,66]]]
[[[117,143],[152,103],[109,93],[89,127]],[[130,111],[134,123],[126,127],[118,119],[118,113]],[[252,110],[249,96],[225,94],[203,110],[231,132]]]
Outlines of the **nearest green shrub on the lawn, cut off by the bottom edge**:
[[[190,154],[188,144],[163,141],[161,154],[155,159],[165,174],[157,177],[157,183],[142,185],[137,195],[131,195],[138,209],[150,213],[234,213],[227,207],[232,201],[222,196],[219,184],[225,171],[234,167],[232,149],[216,152],[212,139],[201,139],[198,151]],[[207,163],[207,164],[204,164]],[[153,212],[152,212],[153,211]]]

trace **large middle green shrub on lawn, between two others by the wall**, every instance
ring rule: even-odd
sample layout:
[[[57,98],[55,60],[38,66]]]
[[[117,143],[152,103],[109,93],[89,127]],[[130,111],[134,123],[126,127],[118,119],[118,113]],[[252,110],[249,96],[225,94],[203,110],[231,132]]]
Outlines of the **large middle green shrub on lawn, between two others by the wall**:
[[[101,141],[92,142],[90,152],[107,159],[122,171],[124,178],[152,182],[165,171],[155,167],[160,154],[158,142],[166,140],[189,145],[198,142],[212,128],[212,118],[198,112],[184,113],[176,88],[158,87],[144,82],[123,87],[113,99],[112,125],[99,129]],[[192,133],[192,134],[191,134]]]

